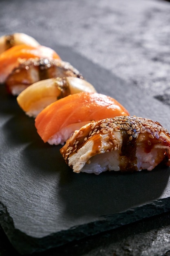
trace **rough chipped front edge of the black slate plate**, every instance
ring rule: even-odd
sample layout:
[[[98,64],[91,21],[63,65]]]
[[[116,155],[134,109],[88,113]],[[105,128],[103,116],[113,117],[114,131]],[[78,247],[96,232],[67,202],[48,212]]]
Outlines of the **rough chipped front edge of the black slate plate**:
[[[7,212],[7,208],[0,203],[0,223],[7,234],[13,247],[22,255],[44,252],[48,249],[60,247],[74,240],[80,240],[87,236],[93,236],[104,231],[119,228],[144,218],[159,215],[170,211],[170,197],[155,200],[143,206],[132,208],[121,213],[100,216],[99,220],[88,224],[71,227],[57,233],[33,238],[15,229],[13,220]],[[128,215],[128,218],[127,218]],[[126,217],[126,218],[125,218]],[[13,231],[12,231],[13,230]]]

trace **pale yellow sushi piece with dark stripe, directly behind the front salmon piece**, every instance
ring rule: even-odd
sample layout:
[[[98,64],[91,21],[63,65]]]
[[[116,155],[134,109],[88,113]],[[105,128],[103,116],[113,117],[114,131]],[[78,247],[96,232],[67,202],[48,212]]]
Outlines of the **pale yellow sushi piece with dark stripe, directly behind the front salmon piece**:
[[[79,92],[96,92],[91,83],[74,76],[45,79],[33,83],[17,97],[20,108],[29,117],[36,117],[51,103]]]

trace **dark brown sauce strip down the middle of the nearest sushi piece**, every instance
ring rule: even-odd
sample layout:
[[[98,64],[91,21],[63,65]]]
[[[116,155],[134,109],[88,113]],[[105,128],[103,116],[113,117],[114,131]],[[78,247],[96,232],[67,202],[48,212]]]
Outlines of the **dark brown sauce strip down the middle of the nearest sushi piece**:
[[[122,147],[121,154],[119,156],[120,171],[137,171],[137,141],[135,138],[129,140],[129,135],[125,130],[121,130]]]

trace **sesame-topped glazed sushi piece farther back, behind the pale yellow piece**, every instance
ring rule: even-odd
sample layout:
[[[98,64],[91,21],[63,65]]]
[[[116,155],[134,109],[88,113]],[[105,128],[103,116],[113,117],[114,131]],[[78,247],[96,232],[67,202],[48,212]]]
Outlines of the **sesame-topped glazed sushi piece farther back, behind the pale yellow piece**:
[[[65,76],[75,76],[83,79],[75,67],[70,63],[49,58],[29,58],[19,60],[18,67],[15,67],[5,81],[9,94],[18,96],[29,85],[35,82]]]

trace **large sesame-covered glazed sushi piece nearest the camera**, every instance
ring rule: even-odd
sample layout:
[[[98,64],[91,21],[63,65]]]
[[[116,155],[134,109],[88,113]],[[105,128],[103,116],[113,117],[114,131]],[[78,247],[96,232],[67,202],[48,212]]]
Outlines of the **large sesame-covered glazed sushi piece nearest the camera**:
[[[75,173],[151,171],[170,166],[170,133],[146,118],[107,118],[76,130],[60,153]]]

